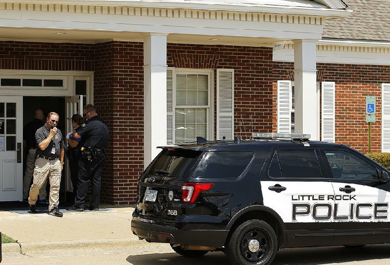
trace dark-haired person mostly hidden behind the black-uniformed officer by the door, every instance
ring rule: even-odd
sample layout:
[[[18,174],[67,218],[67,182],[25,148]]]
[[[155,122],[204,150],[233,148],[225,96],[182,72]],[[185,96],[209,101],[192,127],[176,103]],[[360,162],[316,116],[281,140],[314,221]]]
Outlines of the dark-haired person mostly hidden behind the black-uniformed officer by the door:
[[[73,114],[72,116],[72,127],[76,130],[78,127],[85,123],[85,119],[80,114]],[[72,134],[74,131],[69,132],[66,135],[66,140],[68,142],[68,161],[69,161],[69,170],[70,170],[70,179],[73,186],[73,200],[75,200],[77,195],[77,185],[78,185],[78,160],[80,159],[80,152],[78,150],[78,143],[81,138],[75,138]]]

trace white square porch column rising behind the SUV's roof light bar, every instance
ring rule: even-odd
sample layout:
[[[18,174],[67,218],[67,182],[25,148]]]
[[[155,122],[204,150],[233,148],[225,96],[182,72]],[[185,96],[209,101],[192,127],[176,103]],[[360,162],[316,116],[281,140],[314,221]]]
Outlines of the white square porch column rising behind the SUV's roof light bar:
[[[319,140],[317,116],[317,40],[299,39],[294,42],[295,132],[311,134]]]

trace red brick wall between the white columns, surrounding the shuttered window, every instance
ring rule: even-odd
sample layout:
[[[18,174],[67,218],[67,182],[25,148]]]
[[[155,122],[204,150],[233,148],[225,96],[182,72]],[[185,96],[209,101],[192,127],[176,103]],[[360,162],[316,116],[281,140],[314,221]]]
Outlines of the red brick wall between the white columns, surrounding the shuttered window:
[[[271,48],[168,44],[167,53],[169,67],[234,69],[234,135],[250,138],[252,132],[271,132]],[[216,71],[214,76],[216,98]]]

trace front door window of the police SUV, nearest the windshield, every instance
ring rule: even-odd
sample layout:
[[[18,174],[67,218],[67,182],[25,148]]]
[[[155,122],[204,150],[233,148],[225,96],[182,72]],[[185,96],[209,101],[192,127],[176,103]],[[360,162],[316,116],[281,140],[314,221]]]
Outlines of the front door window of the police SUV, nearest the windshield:
[[[347,151],[325,151],[333,178],[378,179],[375,167]]]

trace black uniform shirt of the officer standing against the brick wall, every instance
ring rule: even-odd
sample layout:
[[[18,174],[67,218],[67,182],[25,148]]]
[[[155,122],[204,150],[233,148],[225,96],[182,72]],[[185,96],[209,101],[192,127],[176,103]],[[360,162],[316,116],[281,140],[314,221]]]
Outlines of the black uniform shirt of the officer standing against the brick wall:
[[[93,116],[85,124],[78,127],[76,132],[81,136],[79,148],[89,146],[93,149],[107,148],[110,132],[99,115]]]

